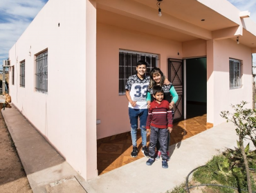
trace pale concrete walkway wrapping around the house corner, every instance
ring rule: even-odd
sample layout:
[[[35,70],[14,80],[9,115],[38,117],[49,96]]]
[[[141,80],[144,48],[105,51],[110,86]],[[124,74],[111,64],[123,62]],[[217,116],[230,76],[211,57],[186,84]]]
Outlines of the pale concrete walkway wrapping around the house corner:
[[[223,123],[170,146],[168,169],[161,167],[161,160],[146,165],[145,157],[84,181],[13,105],[2,113],[30,186],[40,193],[166,192],[183,183],[191,170],[204,165],[219,150],[233,148],[237,140],[235,126]]]

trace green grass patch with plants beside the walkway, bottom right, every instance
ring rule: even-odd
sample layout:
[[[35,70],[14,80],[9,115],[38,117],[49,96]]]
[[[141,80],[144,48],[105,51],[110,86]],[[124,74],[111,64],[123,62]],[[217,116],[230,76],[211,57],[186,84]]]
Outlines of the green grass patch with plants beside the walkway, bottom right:
[[[248,163],[250,168],[256,169],[256,151],[247,153]],[[253,192],[256,192],[256,174],[255,170],[251,170],[251,182]],[[247,190],[246,171],[244,170],[244,161],[239,152],[239,149],[226,150],[223,154],[213,156],[205,167],[199,167],[198,170],[192,174],[191,185],[198,184],[219,184],[230,187],[237,187],[238,192]],[[194,187],[196,189],[196,187]],[[192,192],[193,189],[190,189]],[[185,183],[176,186],[174,190],[167,193],[185,193]],[[228,187],[207,186],[204,187],[202,192],[219,192],[219,193],[233,193],[237,192]]]

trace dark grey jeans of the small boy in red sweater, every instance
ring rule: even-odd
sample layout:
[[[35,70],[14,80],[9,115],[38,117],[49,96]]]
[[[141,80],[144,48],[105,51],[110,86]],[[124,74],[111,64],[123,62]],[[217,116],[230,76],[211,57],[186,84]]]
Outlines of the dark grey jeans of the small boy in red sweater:
[[[150,127],[150,142],[149,142],[149,156],[154,159],[156,152],[156,143],[159,141],[162,159],[167,160],[167,136],[169,132],[166,129],[159,129],[155,127]]]

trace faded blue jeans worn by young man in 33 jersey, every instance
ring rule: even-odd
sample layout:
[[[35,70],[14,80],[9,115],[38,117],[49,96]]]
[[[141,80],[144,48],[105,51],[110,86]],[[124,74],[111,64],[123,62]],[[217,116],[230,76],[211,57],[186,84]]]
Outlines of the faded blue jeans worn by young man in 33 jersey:
[[[129,118],[131,123],[131,141],[133,146],[137,146],[138,118],[140,118],[140,134],[143,139],[143,146],[147,145],[147,109],[129,108]]]

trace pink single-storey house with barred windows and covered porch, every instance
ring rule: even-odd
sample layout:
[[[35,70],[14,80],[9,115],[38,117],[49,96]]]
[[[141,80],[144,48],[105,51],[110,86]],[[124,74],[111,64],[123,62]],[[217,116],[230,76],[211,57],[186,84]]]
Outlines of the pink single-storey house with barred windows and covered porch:
[[[10,49],[10,95],[92,179],[97,139],[130,130],[123,92],[138,59],[174,83],[176,119],[195,101],[207,103],[207,121],[218,125],[230,103],[252,107],[255,52],[256,24],[226,0],[50,0]]]

